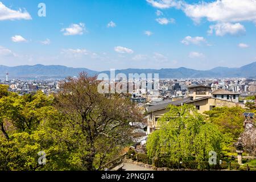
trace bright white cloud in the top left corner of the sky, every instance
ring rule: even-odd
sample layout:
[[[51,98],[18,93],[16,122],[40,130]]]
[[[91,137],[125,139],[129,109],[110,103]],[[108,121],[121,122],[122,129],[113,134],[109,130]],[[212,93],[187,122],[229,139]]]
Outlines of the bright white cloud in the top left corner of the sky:
[[[0,20],[32,19],[26,10],[11,10],[0,2]]]

